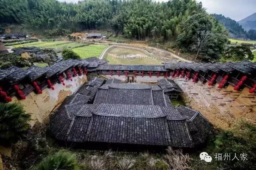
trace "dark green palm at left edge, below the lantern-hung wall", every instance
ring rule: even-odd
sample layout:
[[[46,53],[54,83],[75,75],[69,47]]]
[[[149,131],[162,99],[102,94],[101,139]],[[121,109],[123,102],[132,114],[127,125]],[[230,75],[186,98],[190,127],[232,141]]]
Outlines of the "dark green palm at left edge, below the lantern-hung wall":
[[[18,103],[0,103],[0,143],[16,143],[29,129],[30,117]]]

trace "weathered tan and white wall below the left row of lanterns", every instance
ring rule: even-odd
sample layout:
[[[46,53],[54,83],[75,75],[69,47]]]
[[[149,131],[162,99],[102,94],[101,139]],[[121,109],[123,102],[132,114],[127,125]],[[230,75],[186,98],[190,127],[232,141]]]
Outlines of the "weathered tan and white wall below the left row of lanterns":
[[[36,121],[42,122],[48,115],[58,107],[66,98],[76,92],[82,84],[87,82],[86,75],[72,78],[73,81],[64,80],[65,86],[62,84],[54,84],[54,90],[45,88],[42,94],[31,92],[26,96],[25,100],[18,100],[16,96],[12,97],[12,102],[18,102],[24,106],[27,113],[31,113],[32,120],[30,124],[33,126]]]

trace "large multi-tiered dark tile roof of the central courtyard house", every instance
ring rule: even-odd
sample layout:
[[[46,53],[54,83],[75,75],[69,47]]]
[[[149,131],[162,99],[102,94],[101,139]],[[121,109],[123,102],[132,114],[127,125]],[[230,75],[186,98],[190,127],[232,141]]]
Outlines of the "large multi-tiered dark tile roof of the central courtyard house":
[[[199,112],[175,109],[162,90],[134,84],[114,86],[99,89],[94,104],[85,104],[84,98],[77,98],[80,94],[68,96],[51,116],[53,135],[59,140],[98,145],[194,147],[211,131],[210,123]]]

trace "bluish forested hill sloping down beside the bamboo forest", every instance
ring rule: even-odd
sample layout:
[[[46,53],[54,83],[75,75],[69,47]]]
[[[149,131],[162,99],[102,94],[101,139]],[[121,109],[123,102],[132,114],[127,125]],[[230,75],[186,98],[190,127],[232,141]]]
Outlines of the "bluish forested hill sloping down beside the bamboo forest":
[[[237,21],[232,20],[229,17],[225,17],[222,14],[212,14],[212,16],[220,21],[226,29],[228,29],[230,37],[246,38],[246,31],[244,31],[242,25]]]

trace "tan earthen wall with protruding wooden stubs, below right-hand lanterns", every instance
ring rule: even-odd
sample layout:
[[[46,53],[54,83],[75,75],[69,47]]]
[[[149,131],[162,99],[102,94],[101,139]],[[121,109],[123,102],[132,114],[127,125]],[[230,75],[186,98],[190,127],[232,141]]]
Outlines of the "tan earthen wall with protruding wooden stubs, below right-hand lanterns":
[[[229,112],[235,119],[245,117],[256,124],[256,94],[250,94],[249,88],[236,91],[232,85],[220,89],[218,83],[208,86],[208,83],[193,83],[184,78],[175,78],[174,81],[188,97],[205,107],[214,106],[221,114]]]

